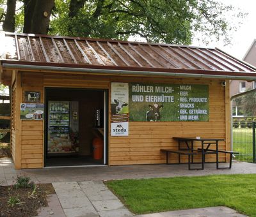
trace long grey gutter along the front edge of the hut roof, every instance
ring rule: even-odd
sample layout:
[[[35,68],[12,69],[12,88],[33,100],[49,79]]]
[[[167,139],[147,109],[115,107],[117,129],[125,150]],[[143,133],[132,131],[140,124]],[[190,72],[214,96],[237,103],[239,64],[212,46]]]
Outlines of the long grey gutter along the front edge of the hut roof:
[[[89,72],[89,73],[104,73],[111,75],[146,75],[146,76],[164,76],[164,77],[190,77],[190,78],[205,78],[205,79],[227,79],[227,80],[255,80],[253,76],[237,76],[237,75],[201,75],[194,73],[166,73],[164,71],[131,71],[131,70],[102,70],[94,68],[71,68],[58,66],[36,66],[24,64],[3,63],[3,68],[12,69],[27,69],[27,70],[50,70],[50,71],[74,71],[74,72]]]

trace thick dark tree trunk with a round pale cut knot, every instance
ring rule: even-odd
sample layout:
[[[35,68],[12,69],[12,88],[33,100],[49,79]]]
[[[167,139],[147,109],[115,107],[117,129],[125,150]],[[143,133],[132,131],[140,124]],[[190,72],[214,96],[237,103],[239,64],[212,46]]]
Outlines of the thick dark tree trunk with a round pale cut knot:
[[[32,0],[35,1],[35,0]],[[54,0],[36,0],[30,33],[47,34]]]

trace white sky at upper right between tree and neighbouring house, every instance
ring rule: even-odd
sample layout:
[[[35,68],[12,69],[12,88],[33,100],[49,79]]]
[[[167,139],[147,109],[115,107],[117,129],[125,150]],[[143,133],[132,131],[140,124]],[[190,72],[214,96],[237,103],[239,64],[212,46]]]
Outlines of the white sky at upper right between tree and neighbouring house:
[[[254,39],[256,39],[256,0],[218,0],[223,4],[231,4],[241,11],[248,13],[241,27],[232,34],[232,45],[224,47],[223,41],[215,41],[210,47],[218,47],[228,54],[243,59]]]

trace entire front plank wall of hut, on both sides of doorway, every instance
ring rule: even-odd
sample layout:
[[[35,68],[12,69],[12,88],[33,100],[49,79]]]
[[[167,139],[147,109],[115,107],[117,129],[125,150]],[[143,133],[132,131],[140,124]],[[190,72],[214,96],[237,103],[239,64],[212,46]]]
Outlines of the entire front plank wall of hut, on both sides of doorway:
[[[65,75],[54,73],[43,74],[23,72],[22,91],[23,93],[25,90],[41,91],[41,101],[44,102],[44,87],[73,87],[110,90],[111,81],[154,82],[170,84],[207,84],[209,85],[210,120],[209,122],[130,122],[128,137],[109,137],[109,165],[165,163],[165,154],[161,153],[159,150],[161,148],[177,146],[177,142],[172,140],[172,137],[200,136],[226,138],[227,128],[225,125],[225,116],[227,115],[227,110],[225,107],[225,87],[220,86],[220,80],[177,78],[163,79],[159,77],[97,77],[93,75]],[[110,97],[111,96],[109,96],[109,108]],[[22,168],[43,167],[43,121],[22,121],[21,144]],[[221,142],[220,148],[226,148],[225,142]],[[215,156],[207,156],[209,161],[215,161],[214,157]],[[220,160],[225,161],[225,155],[222,155]],[[177,158],[172,162],[176,161]]]

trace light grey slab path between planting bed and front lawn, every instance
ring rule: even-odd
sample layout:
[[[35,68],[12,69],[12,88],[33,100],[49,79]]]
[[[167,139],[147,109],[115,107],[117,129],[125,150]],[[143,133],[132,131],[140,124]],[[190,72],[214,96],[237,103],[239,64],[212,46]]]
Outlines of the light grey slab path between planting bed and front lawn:
[[[102,181],[52,183],[67,217],[132,216]]]

